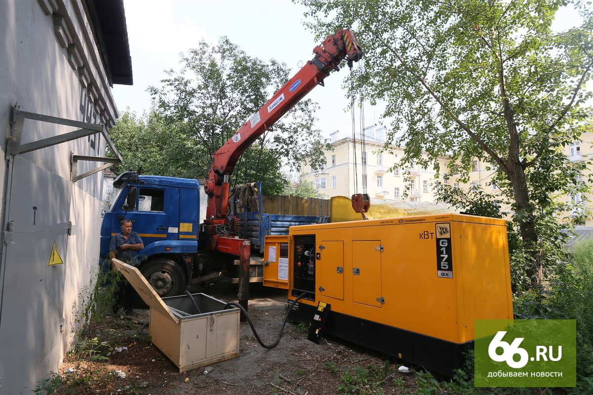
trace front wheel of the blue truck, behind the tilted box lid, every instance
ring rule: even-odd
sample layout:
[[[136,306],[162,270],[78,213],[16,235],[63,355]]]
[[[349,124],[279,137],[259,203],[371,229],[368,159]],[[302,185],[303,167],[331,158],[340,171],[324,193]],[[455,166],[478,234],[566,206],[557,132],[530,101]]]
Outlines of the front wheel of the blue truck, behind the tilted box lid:
[[[171,259],[152,259],[142,265],[140,271],[160,297],[180,295],[186,289],[186,276]]]

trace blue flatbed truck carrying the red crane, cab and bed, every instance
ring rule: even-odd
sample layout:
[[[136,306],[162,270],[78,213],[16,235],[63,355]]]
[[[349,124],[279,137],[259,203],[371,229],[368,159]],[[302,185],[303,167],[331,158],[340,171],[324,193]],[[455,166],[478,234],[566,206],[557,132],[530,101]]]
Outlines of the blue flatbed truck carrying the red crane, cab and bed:
[[[109,256],[111,237],[121,232],[120,221],[127,219],[144,241],[138,268],[160,296],[181,294],[189,285],[221,273],[238,277],[235,257],[208,251],[208,240],[200,238],[200,201],[205,195],[197,179],[125,172],[113,186],[118,192],[103,214],[101,258]],[[289,226],[329,222],[329,216],[262,213],[261,207],[235,212],[231,226],[222,230],[250,240],[250,282],[262,281],[264,236],[288,235]]]

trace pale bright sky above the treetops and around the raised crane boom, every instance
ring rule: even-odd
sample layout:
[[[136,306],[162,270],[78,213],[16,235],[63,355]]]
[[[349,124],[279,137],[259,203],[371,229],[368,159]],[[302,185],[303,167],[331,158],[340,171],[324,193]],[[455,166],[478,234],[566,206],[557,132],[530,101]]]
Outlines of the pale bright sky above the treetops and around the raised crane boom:
[[[201,40],[215,44],[222,36],[237,44],[249,56],[286,63],[294,75],[299,62],[313,59],[315,40],[303,25],[305,7],[291,0],[124,0],[127,33],[132,56],[132,86],[114,85],[113,95],[121,113],[127,107],[140,115],[148,111],[148,86],[161,86],[164,70],[179,70],[180,53],[197,48]],[[356,67],[356,66],[355,66]],[[329,137],[352,134],[352,115],[343,81],[343,68],[316,86],[307,98],[320,104],[315,126]],[[380,111],[365,106],[365,126],[378,123]],[[355,125],[359,127],[359,112]],[[375,119],[377,118],[377,119]],[[247,120],[246,120],[247,121]],[[357,129],[357,132],[359,130]]]

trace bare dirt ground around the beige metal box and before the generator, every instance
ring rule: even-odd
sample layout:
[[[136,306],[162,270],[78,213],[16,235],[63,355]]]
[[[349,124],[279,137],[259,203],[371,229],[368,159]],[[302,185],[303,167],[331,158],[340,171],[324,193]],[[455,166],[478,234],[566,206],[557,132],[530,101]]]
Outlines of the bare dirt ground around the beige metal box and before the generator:
[[[251,284],[249,314],[262,341],[276,341],[286,314],[286,291]],[[216,282],[193,288],[222,301],[235,301],[237,285]],[[98,343],[106,342],[101,355],[105,361],[74,359],[60,368],[61,377],[75,382],[68,391],[55,394],[177,395],[177,394],[452,394],[437,390],[436,381],[401,371],[401,361],[389,359],[353,343],[324,335],[320,344],[307,340],[307,329],[286,323],[279,345],[264,349],[256,341],[247,322],[240,324],[240,356],[208,367],[179,373],[178,368],[149,342],[149,310],[136,309],[131,317],[111,315],[97,330]],[[146,324],[146,325],[144,325]],[[144,325],[144,326],[143,326]],[[88,347],[88,346],[87,346]],[[119,348],[116,348],[119,347]],[[93,348],[93,347],[90,347]],[[97,348],[98,349],[98,348]],[[385,361],[390,361],[384,370]],[[369,369],[369,367],[373,367]],[[97,371],[103,372],[97,374]],[[205,371],[208,371],[206,374]],[[66,373],[71,372],[71,373]],[[419,380],[420,378],[420,380]],[[442,377],[441,377],[442,379]],[[59,380],[58,380],[59,381]],[[432,383],[431,383],[432,381]],[[448,380],[445,380],[448,381]],[[547,393],[532,388],[531,394]],[[486,391],[490,393],[490,391]],[[467,391],[464,391],[467,393]],[[484,393],[480,391],[479,393]],[[496,393],[499,393],[496,391]],[[508,393],[508,392],[505,392]],[[555,388],[554,395],[566,395]]]

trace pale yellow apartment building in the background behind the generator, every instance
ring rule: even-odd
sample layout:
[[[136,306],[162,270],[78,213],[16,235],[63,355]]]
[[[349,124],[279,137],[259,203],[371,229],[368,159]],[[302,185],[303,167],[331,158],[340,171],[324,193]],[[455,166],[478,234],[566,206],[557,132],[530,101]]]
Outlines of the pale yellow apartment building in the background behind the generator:
[[[326,166],[321,170],[303,166],[302,172],[306,179],[315,183],[324,198],[368,193],[371,198],[436,203],[433,193],[436,171],[433,168],[421,168],[420,165],[398,167],[403,149],[391,146],[389,152],[380,152],[385,144],[386,134],[385,127],[377,125],[366,127],[364,134],[356,134],[355,137],[340,135],[339,131],[334,131],[330,134],[333,150],[326,152]],[[570,160],[591,157],[593,132],[583,133],[581,141],[569,144],[563,150]],[[449,160],[442,158],[441,169],[447,169],[448,165]],[[494,170],[489,163],[476,159],[471,163],[469,182],[460,182],[452,174],[445,183],[463,190],[479,188],[496,195],[498,185],[493,182],[493,175]],[[404,195],[406,191],[407,196]],[[574,207],[570,213],[559,213],[559,219],[574,216],[579,210],[593,212],[593,202],[588,201],[591,197],[575,194],[558,198],[561,201],[570,201]],[[500,210],[512,212],[509,206],[503,206]],[[593,217],[586,219],[581,225],[593,226]]]

